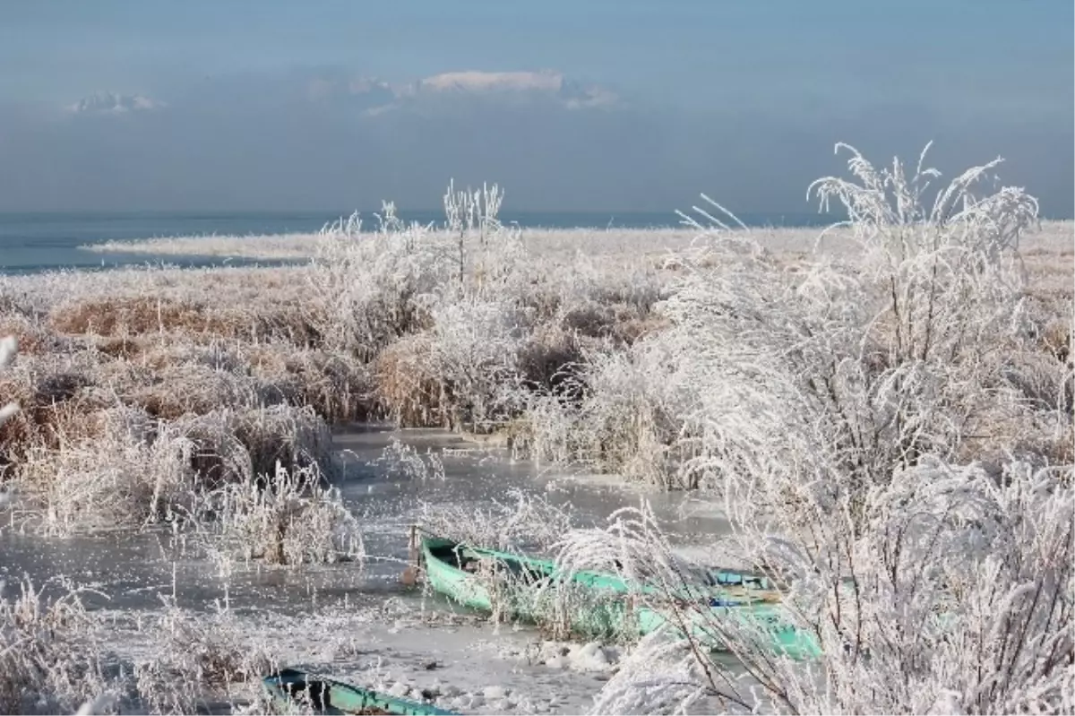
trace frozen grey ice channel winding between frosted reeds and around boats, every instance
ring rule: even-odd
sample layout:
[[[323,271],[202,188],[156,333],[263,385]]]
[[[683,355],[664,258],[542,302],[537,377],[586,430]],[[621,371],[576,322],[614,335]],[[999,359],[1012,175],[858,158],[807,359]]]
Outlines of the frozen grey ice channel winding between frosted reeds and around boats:
[[[395,440],[442,457],[444,479],[389,474],[377,462]],[[641,491],[614,478],[542,471],[438,430],[358,426],[338,431],[339,487],[363,525],[368,560],[280,569],[250,565],[221,574],[183,549],[167,530],[92,538],[0,534],[0,579],[13,595],[24,575],[43,585],[63,575],[90,587],[85,602],[109,615],[116,654],[147,648],[138,624],[159,614],[161,596],[210,613],[227,603],[243,630],[291,665],[370,686],[422,689],[464,713],[579,713],[615,669],[620,650],[555,644],[534,629],[486,622],[479,615],[408,588],[400,579],[410,527],[422,503],[467,510],[510,503],[510,492],[569,504],[579,524],[601,524],[645,497],[671,539],[689,548],[727,530],[715,506],[696,496]],[[126,657],[120,657],[126,658]]]

